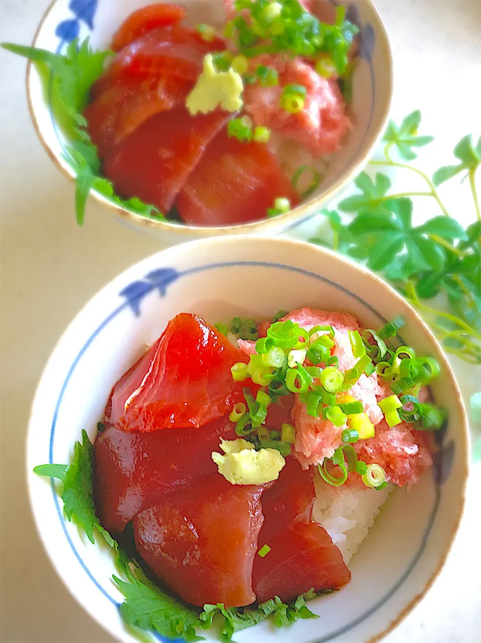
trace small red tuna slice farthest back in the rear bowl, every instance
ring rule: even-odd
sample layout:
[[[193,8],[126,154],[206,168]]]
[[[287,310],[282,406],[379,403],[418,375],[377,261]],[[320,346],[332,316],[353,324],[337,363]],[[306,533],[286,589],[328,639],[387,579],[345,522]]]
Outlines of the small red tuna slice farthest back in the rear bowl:
[[[186,17],[185,7],[180,5],[156,5],[144,6],[133,14],[129,15],[118,30],[114,33],[111,49],[120,51],[134,40],[158,27],[166,27],[171,24],[180,23]]]

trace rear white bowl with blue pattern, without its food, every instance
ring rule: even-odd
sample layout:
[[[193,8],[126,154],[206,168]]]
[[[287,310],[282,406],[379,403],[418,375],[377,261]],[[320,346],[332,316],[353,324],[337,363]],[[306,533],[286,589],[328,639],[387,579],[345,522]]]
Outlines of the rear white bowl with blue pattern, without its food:
[[[174,0],[175,2],[176,0]],[[315,0],[314,0],[315,2]],[[107,49],[122,21],[132,11],[150,4],[145,0],[55,0],[44,15],[33,46],[60,53],[75,38],[89,37],[94,48]],[[188,24],[224,23],[221,0],[184,0],[178,4],[188,9]],[[341,3],[338,3],[341,4]],[[311,219],[359,173],[372,154],[385,129],[392,97],[392,57],[388,35],[370,0],[346,0],[347,16],[359,26],[359,59],[352,82],[350,114],[354,129],[343,148],[332,155],[322,185],[291,212],[262,221],[237,226],[187,226],[150,219],[109,201],[95,190],[93,198],[123,222],[136,229],[161,237],[172,244],[217,235],[262,234],[291,230]],[[27,69],[27,95],[35,131],[59,170],[75,180],[75,170],[64,158],[68,141],[55,122],[51,93],[42,89],[35,66]],[[87,213],[88,214],[88,213]]]

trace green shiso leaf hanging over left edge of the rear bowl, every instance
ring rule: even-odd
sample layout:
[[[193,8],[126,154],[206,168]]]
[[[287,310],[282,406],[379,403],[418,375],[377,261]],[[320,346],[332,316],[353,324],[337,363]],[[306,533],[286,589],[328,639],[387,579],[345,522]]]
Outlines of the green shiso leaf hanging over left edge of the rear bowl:
[[[32,60],[39,65],[39,71],[47,71],[48,73],[41,73],[45,90],[52,80],[51,100],[55,120],[69,140],[64,159],[76,174],[75,214],[78,224],[81,226],[84,222],[91,189],[130,212],[165,220],[152,204],[143,203],[136,197],[122,199],[114,194],[111,181],[100,176],[102,164],[98,158],[98,151],[85,129],[87,122],[82,116],[82,111],[88,103],[90,88],[104,72],[106,60],[113,52],[94,51],[88,38],[82,44],[79,44],[78,39],[72,41],[64,54],[10,43],[1,46],[7,51]]]

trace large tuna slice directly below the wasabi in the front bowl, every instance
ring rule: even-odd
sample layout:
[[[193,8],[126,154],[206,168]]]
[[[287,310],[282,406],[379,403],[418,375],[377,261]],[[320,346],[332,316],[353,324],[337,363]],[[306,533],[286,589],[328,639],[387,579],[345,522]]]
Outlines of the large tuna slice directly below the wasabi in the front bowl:
[[[255,600],[252,565],[262,487],[212,476],[134,518],[140,556],[184,601],[226,607]]]

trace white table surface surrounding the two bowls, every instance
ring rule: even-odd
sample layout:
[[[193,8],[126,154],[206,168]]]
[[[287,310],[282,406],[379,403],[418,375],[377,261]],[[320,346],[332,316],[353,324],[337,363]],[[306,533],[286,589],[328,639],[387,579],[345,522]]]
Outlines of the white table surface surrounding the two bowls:
[[[0,41],[30,44],[47,5],[0,0]],[[481,134],[481,0],[377,0],[377,6],[395,55],[392,114],[399,119],[421,109],[423,133],[436,136],[421,163],[427,170],[446,165],[464,134]],[[4,51],[0,57],[0,640],[111,641],[66,591],[35,532],[24,482],[26,426],[42,368],[69,321],[114,275],[163,246],[127,230],[95,203],[87,207],[84,228],[77,227],[73,186],[52,165],[30,122],[25,62]],[[463,188],[444,194],[460,219],[472,219]],[[469,399],[481,388],[481,368],[453,366]],[[386,643],[481,642],[480,492],[478,464],[446,566]]]

